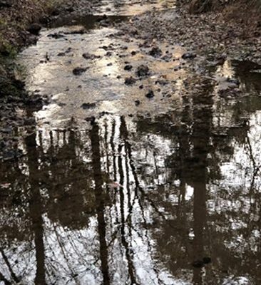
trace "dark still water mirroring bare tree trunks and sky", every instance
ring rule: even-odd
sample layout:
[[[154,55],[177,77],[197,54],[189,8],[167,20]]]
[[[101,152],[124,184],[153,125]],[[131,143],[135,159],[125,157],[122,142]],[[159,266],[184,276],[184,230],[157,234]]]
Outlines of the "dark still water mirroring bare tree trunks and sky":
[[[1,281],[259,284],[259,100],[198,85],[180,113],[21,141],[0,166]]]

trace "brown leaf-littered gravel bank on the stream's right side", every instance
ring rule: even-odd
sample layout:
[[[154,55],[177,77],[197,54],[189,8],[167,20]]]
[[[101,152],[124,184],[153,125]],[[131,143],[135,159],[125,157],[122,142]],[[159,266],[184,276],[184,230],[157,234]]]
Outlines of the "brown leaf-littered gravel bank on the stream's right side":
[[[144,41],[168,41],[184,46],[205,58],[234,58],[261,63],[261,27],[249,29],[246,23],[224,19],[222,12],[189,14],[185,6],[173,11],[150,11],[125,23],[124,35],[133,31]]]

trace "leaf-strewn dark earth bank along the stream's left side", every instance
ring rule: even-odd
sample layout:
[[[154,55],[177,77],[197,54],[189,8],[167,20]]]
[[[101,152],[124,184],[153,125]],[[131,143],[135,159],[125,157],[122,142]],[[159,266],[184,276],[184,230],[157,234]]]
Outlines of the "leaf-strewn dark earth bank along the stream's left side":
[[[21,48],[36,43],[41,28],[69,14],[91,14],[98,1],[0,1],[0,160],[21,157],[17,133],[34,129],[33,112],[47,103],[24,89],[24,66],[15,63]],[[45,58],[47,60],[47,58]]]

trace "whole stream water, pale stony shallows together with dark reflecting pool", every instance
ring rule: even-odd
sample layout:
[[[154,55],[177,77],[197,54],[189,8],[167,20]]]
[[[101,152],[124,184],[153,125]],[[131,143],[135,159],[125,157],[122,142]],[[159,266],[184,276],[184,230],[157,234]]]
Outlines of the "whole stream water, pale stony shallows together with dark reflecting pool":
[[[50,103],[0,164],[0,284],[260,284],[261,67],[140,43],[68,19],[21,53]]]

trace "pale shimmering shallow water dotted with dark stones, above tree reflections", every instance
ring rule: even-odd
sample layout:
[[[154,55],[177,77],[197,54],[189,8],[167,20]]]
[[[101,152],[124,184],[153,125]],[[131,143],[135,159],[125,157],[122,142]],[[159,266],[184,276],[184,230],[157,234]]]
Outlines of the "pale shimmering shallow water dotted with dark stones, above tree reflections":
[[[39,127],[67,128],[73,119],[86,128],[86,119],[104,112],[165,113],[166,107],[171,109],[179,100],[173,90],[181,88],[180,78],[185,76],[185,68],[176,60],[183,54],[183,48],[170,48],[162,43],[162,56],[167,56],[163,60],[148,55],[152,47],[140,48],[139,41],[128,43],[112,37],[117,33],[113,28],[81,31],[81,26],[43,31],[36,46],[21,53],[21,62],[26,61],[29,70],[28,90],[33,93],[37,90],[51,100],[36,114]],[[126,71],[129,63],[131,71]],[[142,64],[148,66],[149,75],[140,80],[135,73]],[[76,68],[85,72],[76,76],[73,74]],[[126,86],[126,78],[131,76],[137,81]],[[150,90],[155,94],[153,100],[145,97]],[[138,107],[136,100],[140,101]],[[82,108],[86,103],[95,108]]]

